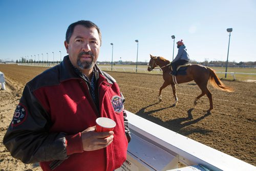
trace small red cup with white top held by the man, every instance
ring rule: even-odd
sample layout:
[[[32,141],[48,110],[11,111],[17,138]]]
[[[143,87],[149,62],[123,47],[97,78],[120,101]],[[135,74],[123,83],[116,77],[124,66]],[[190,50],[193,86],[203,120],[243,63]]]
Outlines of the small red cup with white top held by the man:
[[[96,132],[109,132],[113,131],[116,122],[110,118],[100,117],[96,119]]]

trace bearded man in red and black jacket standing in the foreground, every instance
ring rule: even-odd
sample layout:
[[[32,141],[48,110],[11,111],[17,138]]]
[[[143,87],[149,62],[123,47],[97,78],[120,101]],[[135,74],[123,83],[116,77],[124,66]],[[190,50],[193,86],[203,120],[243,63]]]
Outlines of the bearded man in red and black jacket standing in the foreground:
[[[124,97],[115,79],[96,61],[99,28],[88,20],[69,26],[63,61],[29,81],[4,137],[14,158],[40,162],[42,170],[114,170],[131,140]],[[95,132],[108,117],[113,131]]]

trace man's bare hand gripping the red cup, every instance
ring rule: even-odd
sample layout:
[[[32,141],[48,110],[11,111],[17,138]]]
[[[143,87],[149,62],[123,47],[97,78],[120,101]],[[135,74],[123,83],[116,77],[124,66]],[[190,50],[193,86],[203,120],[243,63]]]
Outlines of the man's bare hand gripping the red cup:
[[[110,132],[95,132],[95,127],[81,132],[83,151],[94,151],[108,146],[113,141],[113,131]]]

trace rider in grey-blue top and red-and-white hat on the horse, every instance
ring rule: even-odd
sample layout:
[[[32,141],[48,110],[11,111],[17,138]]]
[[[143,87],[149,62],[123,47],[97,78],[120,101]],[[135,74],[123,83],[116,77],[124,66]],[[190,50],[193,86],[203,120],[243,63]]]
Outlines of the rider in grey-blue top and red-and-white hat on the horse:
[[[184,65],[189,61],[189,55],[187,54],[187,50],[185,49],[186,47],[183,44],[182,40],[177,42],[177,48],[179,49],[178,54],[171,63],[173,72],[170,72],[170,74],[174,76],[177,75],[177,67]]]

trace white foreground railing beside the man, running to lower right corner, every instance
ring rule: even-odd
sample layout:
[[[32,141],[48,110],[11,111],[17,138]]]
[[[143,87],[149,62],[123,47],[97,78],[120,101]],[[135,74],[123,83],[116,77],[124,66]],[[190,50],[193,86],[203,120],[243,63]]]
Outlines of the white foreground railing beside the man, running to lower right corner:
[[[132,140],[123,170],[170,170],[177,168],[178,162],[210,170],[256,170],[249,163],[126,112]]]

